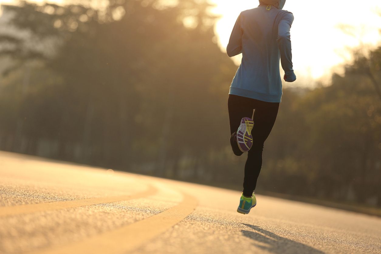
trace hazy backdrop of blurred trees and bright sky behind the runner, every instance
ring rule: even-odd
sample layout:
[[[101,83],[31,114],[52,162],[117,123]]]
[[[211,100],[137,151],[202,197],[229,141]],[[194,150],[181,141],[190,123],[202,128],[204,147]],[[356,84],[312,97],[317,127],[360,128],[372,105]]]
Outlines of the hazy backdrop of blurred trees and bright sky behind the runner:
[[[213,2],[0,2],[0,149],[240,189],[224,48],[258,2]],[[336,2],[285,5],[298,80],[256,192],[381,207],[380,3]]]

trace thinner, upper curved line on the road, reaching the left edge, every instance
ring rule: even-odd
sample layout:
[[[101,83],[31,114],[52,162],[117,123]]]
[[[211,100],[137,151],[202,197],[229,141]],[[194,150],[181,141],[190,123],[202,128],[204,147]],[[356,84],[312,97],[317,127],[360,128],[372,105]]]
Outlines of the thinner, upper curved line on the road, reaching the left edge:
[[[13,216],[13,215],[19,215],[19,214],[29,214],[32,212],[42,212],[42,211],[74,208],[79,206],[91,206],[93,204],[113,203],[118,201],[130,200],[133,198],[142,198],[145,196],[154,195],[156,192],[157,192],[157,189],[149,185],[148,189],[145,190],[144,192],[139,192],[132,195],[110,196],[110,197],[101,197],[101,198],[87,198],[87,199],[80,199],[80,200],[57,201],[57,202],[47,202],[47,203],[38,203],[38,204],[24,204],[20,206],[5,206],[5,207],[0,207],[0,217]]]

